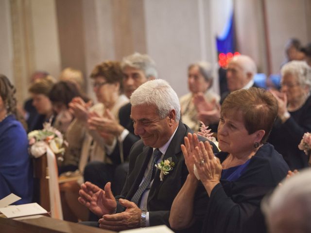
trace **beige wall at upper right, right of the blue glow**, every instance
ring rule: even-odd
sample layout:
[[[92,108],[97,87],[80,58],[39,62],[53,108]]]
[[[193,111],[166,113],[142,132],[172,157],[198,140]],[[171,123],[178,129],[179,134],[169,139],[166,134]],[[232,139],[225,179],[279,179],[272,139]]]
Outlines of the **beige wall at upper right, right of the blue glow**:
[[[269,75],[270,58],[271,73],[278,73],[289,38],[311,42],[310,18],[310,0],[235,0],[237,48],[256,61],[259,72]]]

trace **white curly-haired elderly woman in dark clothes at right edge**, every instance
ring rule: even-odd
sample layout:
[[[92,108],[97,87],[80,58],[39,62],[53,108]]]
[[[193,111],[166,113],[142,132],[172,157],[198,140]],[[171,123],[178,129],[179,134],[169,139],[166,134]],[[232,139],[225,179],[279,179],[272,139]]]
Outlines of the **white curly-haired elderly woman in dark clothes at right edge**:
[[[268,141],[292,170],[300,169],[308,166],[309,159],[298,145],[303,134],[311,131],[311,67],[292,61],[281,74],[281,92],[271,91],[278,102],[278,117]]]

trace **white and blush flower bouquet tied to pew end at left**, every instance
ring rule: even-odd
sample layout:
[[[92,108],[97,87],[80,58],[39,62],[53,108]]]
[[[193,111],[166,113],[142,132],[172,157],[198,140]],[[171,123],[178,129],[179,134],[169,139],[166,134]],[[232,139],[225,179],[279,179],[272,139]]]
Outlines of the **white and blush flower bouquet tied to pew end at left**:
[[[64,154],[67,142],[62,133],[52,127],[50,122],[43,123],[42,130],[34,130],[28,133],[30,153],[35,158],[41,157],[49,147],[55,154]]]

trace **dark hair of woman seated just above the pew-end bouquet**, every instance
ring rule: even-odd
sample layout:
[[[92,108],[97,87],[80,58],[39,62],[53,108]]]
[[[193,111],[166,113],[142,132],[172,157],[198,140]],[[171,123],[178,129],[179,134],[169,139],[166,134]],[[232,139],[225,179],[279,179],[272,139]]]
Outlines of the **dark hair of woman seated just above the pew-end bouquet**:
[[[49,93],[49,99],[52,102],[61,102],[68,104],[74,97],[82,97],[77,86],[70,81],[59,81],[52,86]]]

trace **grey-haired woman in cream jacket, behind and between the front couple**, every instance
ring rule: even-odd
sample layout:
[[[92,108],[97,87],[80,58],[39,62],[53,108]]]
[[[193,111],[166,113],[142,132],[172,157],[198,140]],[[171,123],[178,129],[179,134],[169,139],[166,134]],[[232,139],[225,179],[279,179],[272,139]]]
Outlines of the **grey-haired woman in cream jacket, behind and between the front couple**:
[[[193,63],[188,67],[188,88],[190,93],[180,98],[182,121],[191,130],[198,131],[200,117],[198,112],[208,105],[214,109],[219,103],[220,96],[211,90],[213,84],[212,67],[207,62]],[[204,104],[203,106],[201,106]]]

